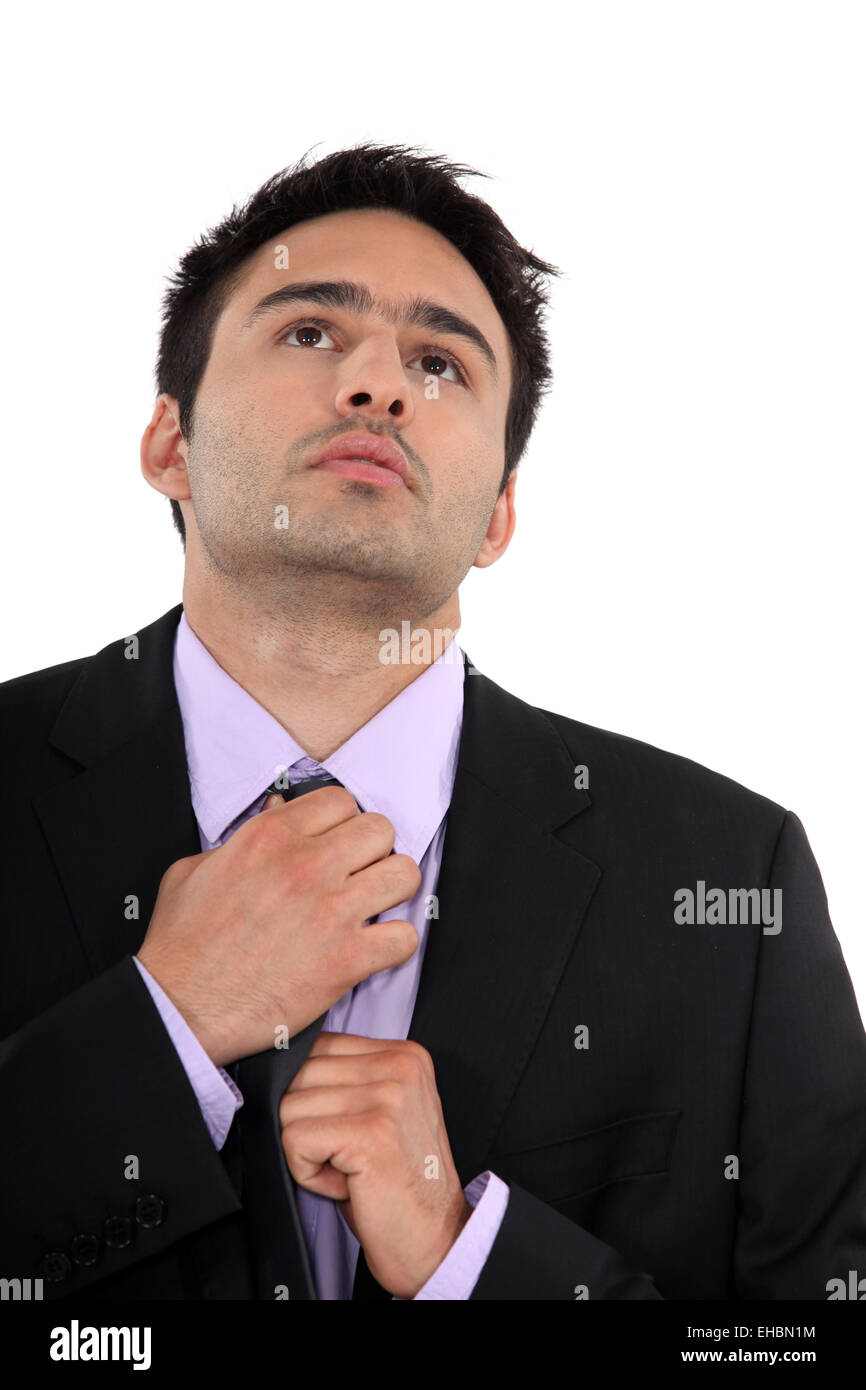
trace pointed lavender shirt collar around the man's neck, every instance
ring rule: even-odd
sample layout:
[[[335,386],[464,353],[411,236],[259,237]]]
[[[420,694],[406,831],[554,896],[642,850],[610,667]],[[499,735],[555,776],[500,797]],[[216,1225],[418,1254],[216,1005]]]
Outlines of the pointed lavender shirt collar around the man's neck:
[[[416,863],[450,803],[463,724],[463,652],[441,656],[346,742],[321,760],[361,810],[395,827],[395,851]],[[181,613],[174,681],[183,720],[196,820],[210,844],[307,758],[292,735],[211,656]]]

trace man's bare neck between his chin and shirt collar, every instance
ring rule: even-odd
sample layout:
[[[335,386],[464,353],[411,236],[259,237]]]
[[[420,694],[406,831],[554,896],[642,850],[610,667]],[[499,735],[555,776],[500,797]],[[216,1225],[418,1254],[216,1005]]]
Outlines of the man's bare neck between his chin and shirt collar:
[[[405,614],[364,621],[335,614],[334,606],[314,613],[306,605],[295,619],[261,602],[253,607],[236,594],[207,594],[189,575],[183,612],[222,670],[318,762],[417,680],[448,644],[446,630],[460,627],[456,591],[434,613],[410,619],[409,637]],[[396,644],[382,641],[385,628],[396,631]]]

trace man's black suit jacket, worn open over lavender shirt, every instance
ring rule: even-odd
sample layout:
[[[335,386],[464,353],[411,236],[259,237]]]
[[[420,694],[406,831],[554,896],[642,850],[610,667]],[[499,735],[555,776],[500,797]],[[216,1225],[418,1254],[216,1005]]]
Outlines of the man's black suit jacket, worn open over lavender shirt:
[[[235,1126],[217,1152],[132,960],[200,851],[181,612],[0,687],[0,1275],[46,1298],[254,1297]],[[781,931],[677,924],[699,880],[781,888]],[[510,1186],[473,1298],[866,1273],[866,1037],[796,816],[470,669],[438,898],[409,1036],[461,1182]]]

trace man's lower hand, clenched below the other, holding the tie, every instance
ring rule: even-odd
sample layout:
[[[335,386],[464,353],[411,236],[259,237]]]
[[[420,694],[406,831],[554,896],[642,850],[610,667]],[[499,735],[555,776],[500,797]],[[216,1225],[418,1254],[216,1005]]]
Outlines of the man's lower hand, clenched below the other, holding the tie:
[[[473,1213],[420,1042],[320,1033],[279,1102],[300,1187],[339,1204],[370,1272],[414,1298]]]

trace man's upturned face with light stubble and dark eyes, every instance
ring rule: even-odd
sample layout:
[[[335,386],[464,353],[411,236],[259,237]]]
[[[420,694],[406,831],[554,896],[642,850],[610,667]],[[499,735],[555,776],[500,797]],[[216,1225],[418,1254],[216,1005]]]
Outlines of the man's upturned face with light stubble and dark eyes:
[[[332,292],[322,302],[328,292],[313,288],[338,281],[368,302],[335,303]],[[303,299],[249,321],[265,296],[302,282]],[[456,322],[413,324],[416,299],[459,316],[470,336]],[[392,306],[399,318],[385,317]],[[343,610],[423,619],[455,592],[488,531],[510,386],[493,302],[432,228],[368,208],[291,228],[250,259],[215,324],[188,445],[188,563],[192,523],[209,567],[247,596],[328,594]],[[399,445],[406,481],[313,466],[356,432]],[[488,546],[480,563],[489,562]]]

